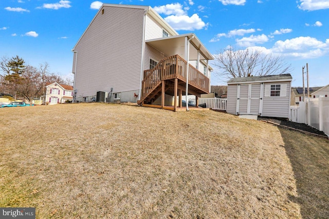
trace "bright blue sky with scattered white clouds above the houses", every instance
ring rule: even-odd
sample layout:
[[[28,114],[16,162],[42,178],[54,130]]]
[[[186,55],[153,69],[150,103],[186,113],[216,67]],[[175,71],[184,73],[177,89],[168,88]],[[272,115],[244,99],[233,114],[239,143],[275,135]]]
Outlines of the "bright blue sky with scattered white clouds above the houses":
[[[151,6],[178,33],[195,33],[212,54],[231,45],[281,55],[294,68],[290,72],[293,86],[302,86],[302,67],[306,63],[310,86],[329,84],[329,0],[103,3]],[[0,57],[19,55],[32,66],[47,62],[50,72],[72,76],[71,49],[101,4],[78,0],[1,0]],[[221,78],[212,76],[212,85],[223,84]]]

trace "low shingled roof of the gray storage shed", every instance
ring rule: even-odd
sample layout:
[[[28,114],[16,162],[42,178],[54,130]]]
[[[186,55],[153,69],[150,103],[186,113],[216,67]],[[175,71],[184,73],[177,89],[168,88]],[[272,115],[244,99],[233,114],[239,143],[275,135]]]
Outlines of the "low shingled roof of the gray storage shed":
[[[251,82],[291,82],[293,77],[290,74],[277,74],[265,76],[235,77],[231,78],[227,84],[244,84]]]

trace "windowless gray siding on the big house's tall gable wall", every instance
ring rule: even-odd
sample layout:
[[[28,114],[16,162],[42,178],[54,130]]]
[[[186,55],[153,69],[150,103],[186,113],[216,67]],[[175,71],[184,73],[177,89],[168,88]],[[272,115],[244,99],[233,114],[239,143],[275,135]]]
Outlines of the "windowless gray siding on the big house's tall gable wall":
[[[140,87],[144,10],[103,8],[104,14],[99,11],[75,47],[77,97]]]

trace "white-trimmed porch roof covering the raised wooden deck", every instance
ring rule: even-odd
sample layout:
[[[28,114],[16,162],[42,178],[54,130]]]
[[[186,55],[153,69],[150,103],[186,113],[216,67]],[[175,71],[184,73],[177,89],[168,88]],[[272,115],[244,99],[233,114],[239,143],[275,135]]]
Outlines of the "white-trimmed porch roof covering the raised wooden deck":
[[[165,53],[168,56],[178,54],[181,57],[185,56],[185,37],[191,39],[190,43],[193,47],[190,47],[189,59],[197,60],[197,51],[200,51],[200,60],[213,60],[214,57],[207,50],[207,48],[201,43],[194,33],[187,33],[175,36],[168,36],[157,39],[149,39],[145,43],[151,45],[155,49]]]

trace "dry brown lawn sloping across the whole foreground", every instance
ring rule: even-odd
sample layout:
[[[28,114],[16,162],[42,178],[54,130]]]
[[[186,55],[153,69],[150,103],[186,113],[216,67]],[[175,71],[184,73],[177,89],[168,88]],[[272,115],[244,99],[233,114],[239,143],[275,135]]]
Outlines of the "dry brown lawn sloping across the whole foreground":
[[[329,215],[324,138],[119,104],[5,108],[0,121],[0,207],[37,218]]]

